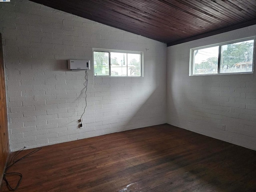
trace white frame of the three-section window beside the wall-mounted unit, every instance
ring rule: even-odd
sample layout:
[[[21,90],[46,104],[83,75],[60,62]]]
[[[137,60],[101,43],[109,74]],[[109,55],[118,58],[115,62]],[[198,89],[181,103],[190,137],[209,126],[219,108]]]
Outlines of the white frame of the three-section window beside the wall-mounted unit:
[[[108,65],[109,65],[109,74],[108,75],[95,75],[94,73],[94,52],[105,52],[108,53]],[[126,54],[140,54],[140,76],[112,76],[111,75],[111,56],[110,53],[115,52],[115,53],[126,53]],[[126,59],[128,60],[128,58]],[[93,48],[92,49],[92,63],[93,63],[93,75],[94,77],[144,77],[144,52],[142,51],[127,51],[127,50],[115,50],[115,49],[102,49],[102,48]],[[128,68],[128,64],[127,64]]]

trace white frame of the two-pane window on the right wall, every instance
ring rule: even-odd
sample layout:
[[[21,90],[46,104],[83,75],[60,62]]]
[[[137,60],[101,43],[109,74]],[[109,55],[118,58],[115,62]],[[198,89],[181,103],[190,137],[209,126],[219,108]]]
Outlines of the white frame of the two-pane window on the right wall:
[[[253,56],[252,56],[252,71],[251,72],[220,73],[221,47],[224,46],[224,45],[238,43],[238,42],[243,42],[243,41],[248,41],[248,40],[254,40]],[[215,47],[215,46],[219,46],[218,73],[216,73],[216,74],[193,74],[193,72],[194,72],[194,51],[195,50],[199,50],[199,49],[204,49],[204,48],[211,48],[211,47]],[[253,74],[253,71],[254,71],[254,60],[255,60],[255,46],[256,46],[256,36],[250,36],[250,37],[240,38],[240,39],[231,40],[231,41],[227,41],[227,42],[221,42],[221,43],[217,43],[217,44],[211,44],[211,45],[191,48],[190,49],[190,61],[189,61],[189,76]]]

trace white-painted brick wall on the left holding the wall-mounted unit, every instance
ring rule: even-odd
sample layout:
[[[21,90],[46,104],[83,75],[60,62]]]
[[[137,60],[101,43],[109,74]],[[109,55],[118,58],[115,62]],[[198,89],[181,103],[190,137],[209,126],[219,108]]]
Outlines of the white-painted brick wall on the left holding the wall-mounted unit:
[[[33,148],[166,123],[166,44],[27,0],[0,4],[10,149]],[[144,77],[93,78],[84,128],[84,71],[92,48],[144,52]]]

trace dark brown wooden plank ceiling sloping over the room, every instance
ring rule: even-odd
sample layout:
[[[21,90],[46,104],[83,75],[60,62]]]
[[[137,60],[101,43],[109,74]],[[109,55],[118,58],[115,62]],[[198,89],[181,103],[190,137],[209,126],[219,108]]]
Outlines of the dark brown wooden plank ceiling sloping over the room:
[[[256,0],[32,0],[168,46],[256,24]]]

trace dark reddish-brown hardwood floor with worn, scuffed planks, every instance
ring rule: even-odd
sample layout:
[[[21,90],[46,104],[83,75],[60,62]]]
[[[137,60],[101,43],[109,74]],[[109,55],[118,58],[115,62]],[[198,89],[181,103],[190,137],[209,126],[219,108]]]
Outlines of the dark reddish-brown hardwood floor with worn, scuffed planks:
[[[254,192],[256,151],[163,124],[45,146],[8,172],[17,192]]]

